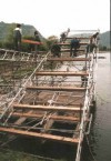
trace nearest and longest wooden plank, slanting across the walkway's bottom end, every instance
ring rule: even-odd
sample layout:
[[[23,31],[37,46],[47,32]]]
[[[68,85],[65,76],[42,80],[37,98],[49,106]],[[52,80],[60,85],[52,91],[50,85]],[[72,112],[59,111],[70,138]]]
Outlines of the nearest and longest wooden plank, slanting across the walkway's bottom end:
[[[19,135],[24,135],[24,137],[34,137],[34,138],[40,138],[40,139],[59,141],[59,142],[70,143],[70,144],[74,144],[74,143],[79,142],[79,139],[74,139],[74,138],[67,138],[67,137],[52,135],[52,134],[47,134],[47,133],[38,133],[38,132],[31,132],[31,131],[24,131],[24,130],[17,130],[13,128],[0,127],[0,131],[11,133],[11,134],[19,134]]]

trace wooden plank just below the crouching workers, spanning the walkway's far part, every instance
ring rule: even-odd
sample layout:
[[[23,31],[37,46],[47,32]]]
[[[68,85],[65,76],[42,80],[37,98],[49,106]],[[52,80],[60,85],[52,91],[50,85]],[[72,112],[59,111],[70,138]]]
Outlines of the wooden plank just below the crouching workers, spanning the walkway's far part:
[[[91,61],[91,58],[48,58],[47,61]]]

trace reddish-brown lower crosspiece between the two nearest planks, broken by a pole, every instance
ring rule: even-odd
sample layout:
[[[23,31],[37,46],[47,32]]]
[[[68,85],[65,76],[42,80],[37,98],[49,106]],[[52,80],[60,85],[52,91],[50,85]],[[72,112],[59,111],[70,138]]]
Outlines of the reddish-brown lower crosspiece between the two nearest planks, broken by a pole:
[[[34,114],[34,113],[23,113],[23,112],[13,112],[13,117],[26,117],[26,118],[42,118],[43,114]],[[70,115],[51,115],[50,119],[56,121],[71,121],[71,122],[78,122],[80,121],[80,118],[74,118]]]

